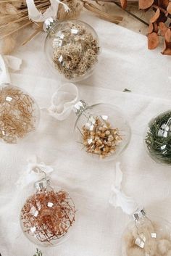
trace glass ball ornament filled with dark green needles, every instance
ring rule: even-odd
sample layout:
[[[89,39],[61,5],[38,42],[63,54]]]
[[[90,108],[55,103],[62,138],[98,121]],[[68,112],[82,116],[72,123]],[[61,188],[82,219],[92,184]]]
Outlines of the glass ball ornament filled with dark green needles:
[[[171,164],[171,111],[162,112],[148,124],[145,146],[150,157],[167,165]]]

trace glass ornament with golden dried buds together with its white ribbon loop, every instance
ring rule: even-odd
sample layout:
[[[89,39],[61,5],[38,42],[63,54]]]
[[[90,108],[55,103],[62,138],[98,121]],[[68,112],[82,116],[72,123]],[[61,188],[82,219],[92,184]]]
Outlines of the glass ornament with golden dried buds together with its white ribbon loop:
[[[52,96],[50,115],[66,119],[75,112],[74,134],[79,148],[96,160],[114,160],[128,146],[130,126],[122,111],[109,103],[88,105],[78,100],[73,83],[61,86]]]

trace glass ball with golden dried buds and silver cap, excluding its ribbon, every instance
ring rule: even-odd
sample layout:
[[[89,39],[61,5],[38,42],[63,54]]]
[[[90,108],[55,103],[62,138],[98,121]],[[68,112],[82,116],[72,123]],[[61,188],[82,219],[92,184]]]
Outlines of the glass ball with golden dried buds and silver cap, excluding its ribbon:
[[[78,116],[75,140],[83,152],[99,160],[114,160],[128,146],[130,126],[120,109],[112,104],[88,106],[80,100],[74,107]]]

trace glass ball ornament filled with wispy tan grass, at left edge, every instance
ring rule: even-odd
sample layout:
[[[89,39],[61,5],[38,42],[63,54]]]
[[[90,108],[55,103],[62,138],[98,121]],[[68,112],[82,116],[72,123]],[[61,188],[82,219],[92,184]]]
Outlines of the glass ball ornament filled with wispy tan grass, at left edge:
[[[22,88],[3,84],[0,87],[0,139],[16,144],[36,130],[40,112],[32,96]]]

